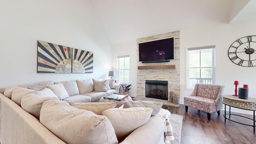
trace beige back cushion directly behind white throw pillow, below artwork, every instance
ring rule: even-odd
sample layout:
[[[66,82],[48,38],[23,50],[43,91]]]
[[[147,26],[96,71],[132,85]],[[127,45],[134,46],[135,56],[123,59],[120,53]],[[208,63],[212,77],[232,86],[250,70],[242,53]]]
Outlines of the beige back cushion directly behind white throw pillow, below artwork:
[[[68,80],[63,82],[54,82],[54,84],[62,83],[65,90],[68,92],[68,96],[74,96],[79,94],[76,80]]]

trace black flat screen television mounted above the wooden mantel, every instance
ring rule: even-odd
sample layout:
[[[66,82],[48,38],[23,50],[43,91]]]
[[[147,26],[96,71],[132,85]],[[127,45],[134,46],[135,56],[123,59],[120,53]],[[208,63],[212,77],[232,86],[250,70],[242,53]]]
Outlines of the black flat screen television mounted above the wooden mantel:
[[[174,59],[173,38],[139,44],[139,61],[142,63],[170,62],[171,59]]]

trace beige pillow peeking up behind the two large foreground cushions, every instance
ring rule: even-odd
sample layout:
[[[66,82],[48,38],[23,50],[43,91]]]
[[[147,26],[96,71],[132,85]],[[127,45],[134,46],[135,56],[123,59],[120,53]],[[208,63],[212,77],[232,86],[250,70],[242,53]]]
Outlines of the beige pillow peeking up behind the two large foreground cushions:
[[[104,110],[108,110],[110,108],[115,108],[116,104],[112,102],[70,102],[70,106],[74,106],[75,108],[82,110],[89,110],[94,112],[94,114],[102,115]]]

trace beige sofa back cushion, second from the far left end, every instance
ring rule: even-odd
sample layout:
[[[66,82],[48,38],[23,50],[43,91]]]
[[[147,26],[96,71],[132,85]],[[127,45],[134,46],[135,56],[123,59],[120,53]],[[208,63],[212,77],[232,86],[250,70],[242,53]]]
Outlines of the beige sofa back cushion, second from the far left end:
[[[21,99],[23,96],[25,96],[26,94],[29,94],[29,93],[35,93],[36,90],[30,90],[30,89],[27,89],[27,88],[17,88],[15,90],[13,90],[12,92],[12,101],[14,101],[16,104],[18,104],[19,106],[20,103],[21,103]]]

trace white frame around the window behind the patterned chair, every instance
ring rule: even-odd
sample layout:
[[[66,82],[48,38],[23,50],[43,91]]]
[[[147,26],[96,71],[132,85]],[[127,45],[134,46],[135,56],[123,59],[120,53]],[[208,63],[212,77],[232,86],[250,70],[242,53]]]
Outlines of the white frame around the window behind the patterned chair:
[[[209,45],[209,46],[198,46],[198,47],[186,47],[186,89],[187,90],[194,90],[194,86],[190,86],[190,77],[189,77],[189,51],[190,50],[203,50],[203,49],[210,49],[214,48],[214,52],[212,52],[212,84],[217,84],[217,65],[216,65],[216,58],[217,58],[217,44],[216,45]]]

